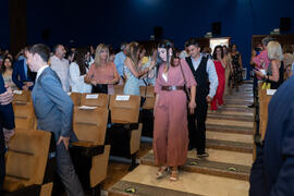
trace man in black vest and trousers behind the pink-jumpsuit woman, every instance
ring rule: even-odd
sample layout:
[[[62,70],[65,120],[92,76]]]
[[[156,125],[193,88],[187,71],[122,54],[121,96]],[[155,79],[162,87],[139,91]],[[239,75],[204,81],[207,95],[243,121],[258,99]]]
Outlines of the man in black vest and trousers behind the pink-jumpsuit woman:
[[[208,103],[213,99],[218,88],[218,75],[212,60],[200,53],[200,47],[195,38],[187,42],[191,57],[186,62],[197,83],[196,105],[194,114],[188,115],[188,138],[189,149],[197,149],[197,157],[208,157],[205,151],[206,147],[206,117]],[[208,83],[209,82],[209,83]],[[195,124],[197,121],[197,124]]]

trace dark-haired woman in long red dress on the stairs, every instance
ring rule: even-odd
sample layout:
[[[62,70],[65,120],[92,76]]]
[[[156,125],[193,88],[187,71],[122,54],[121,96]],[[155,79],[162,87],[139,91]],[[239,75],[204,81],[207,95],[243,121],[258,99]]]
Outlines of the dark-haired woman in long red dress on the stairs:
[[[212,111],[216,111],[218,110],[218,107],[223,106],[223,93],[224,93],[224,86],[225,86],[225,75],[224,75],[225,62],[223,59],[223,50],[220,45],[216,46],[212,58],[213,58],[213,63],[216,66],[218,78],[219,78],[219,85],[217,88],[216,96],[213,97],[210,103],[210,107],[211,107],[210,109]]]

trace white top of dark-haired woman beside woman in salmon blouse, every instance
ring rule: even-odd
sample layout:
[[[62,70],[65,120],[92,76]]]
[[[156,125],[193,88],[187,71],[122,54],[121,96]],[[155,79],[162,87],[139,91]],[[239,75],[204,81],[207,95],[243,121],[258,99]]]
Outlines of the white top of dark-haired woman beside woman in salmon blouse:
[[[72,91],[75,93],[90,93],[91,85],[88,85],[84,82],[85,75],[81,75],[79,68],[75,62],[70,64],[70,78]]]

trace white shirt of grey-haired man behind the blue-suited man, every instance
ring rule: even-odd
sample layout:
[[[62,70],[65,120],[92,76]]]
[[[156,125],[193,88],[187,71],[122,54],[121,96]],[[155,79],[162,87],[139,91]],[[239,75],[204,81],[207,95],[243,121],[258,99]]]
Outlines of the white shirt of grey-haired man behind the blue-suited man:
[[[64,91],[70,91],[69,61],[53,56],[50,58],[51,69],[58,74]]]

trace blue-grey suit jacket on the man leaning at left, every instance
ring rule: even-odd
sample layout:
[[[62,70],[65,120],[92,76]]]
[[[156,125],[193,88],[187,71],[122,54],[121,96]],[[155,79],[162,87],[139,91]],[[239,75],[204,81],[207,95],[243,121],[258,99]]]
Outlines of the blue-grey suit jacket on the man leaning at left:
[[[34,86],[32,98],[38,130],[53,132],[56,140],[60,136],[76,140],[72,130],[73,101],[63,91],[60,78],[53,70],[47,68],[42,71]]]

